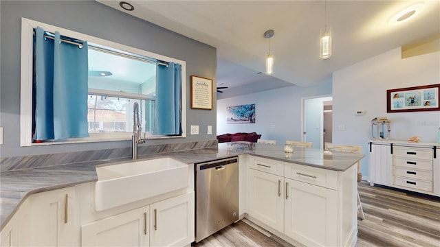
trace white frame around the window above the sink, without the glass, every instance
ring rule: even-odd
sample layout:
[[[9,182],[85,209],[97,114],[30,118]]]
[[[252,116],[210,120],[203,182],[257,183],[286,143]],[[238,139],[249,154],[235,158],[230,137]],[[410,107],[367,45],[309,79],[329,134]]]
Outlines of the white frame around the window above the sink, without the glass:
[[[125,141],[131,140],[131,132],[116,132],[116,133],[99,133],[89,134],[87,138],[69,139],[67,141],[50,141],[43,143],[32,143],[32,80],[33,80],[33,30],[37,26],[43,28],[48,32],[60,32],[63,36],[78,38],[80,40],[87,40],[87,42],[110,47],[121,51],[126,51],[131,54],[139,54],[149,58],[166,62],[175,62],[181,64],[181,128],[183,130],[180,136],[148,136],[148,139],[170,139],[186,137],[186,62],[176,58],[170,58],[155,54],[150,51],[145,51],[128,45],[115,43],[102,38],[96,38],[87,34],[81,34],[72,30],[67,30],[62,27],[56,27],[39,21],[21,18],[21,92],[20,92],[20,146],[28,147],[34,145],[52,145],[65,143],[89,143],[100,141]],[[90,90],[89,90],[90,92]],[[142,134],[143,135],[143,134]]]

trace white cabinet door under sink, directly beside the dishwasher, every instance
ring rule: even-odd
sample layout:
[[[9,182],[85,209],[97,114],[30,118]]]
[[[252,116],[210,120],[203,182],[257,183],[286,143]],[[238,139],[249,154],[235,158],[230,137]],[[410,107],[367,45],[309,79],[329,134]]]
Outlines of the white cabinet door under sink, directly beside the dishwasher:
[[[195,193],[150,205],[151,246],[187,246],[195,236]]]

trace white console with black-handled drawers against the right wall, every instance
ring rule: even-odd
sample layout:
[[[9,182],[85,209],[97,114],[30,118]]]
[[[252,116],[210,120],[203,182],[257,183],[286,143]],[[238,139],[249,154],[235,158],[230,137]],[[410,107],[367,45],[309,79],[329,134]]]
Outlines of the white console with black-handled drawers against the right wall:
[[[370,140],[369,183],[440,196],[440,144]]]

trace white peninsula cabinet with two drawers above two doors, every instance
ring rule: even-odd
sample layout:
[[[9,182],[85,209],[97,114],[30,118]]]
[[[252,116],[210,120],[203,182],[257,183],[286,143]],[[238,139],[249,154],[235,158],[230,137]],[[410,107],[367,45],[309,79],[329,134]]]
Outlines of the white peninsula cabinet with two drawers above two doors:
[[[250,159],[248,163],[250,220],[294,245],[355,244],[358,231],[355,165],[339,172],[256,160]]]

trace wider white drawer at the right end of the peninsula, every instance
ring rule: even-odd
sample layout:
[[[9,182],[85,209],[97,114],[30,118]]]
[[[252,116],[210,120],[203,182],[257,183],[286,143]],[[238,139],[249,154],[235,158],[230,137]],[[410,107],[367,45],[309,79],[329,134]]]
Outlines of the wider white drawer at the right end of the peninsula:
[[[285,163],[285,177],[328,189],[338,189],[338,172],[329,169]]]

